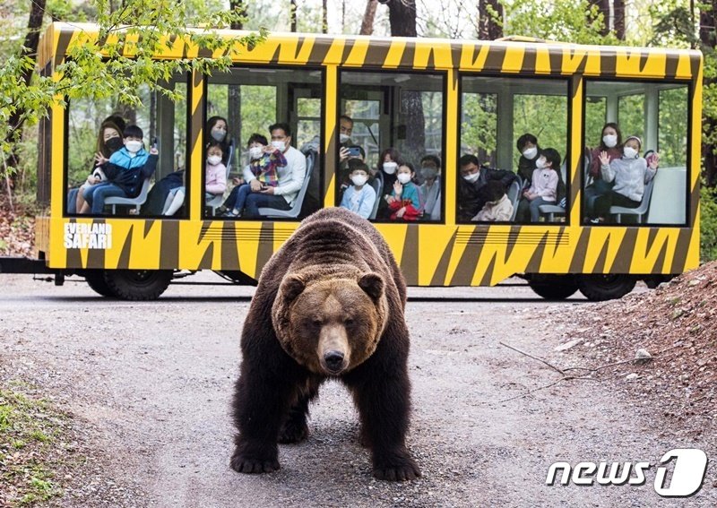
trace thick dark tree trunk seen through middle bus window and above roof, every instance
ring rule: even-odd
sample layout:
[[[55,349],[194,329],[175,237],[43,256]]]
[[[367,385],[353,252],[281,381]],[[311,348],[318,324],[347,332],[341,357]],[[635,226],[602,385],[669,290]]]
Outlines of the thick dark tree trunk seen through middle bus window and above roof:
[[[388,22],[393,37],[416,37],[415,0],[390,0],[388,3]],[[399,133],[405,136],[403,155],[408,160],[418,162],[426,152],[426,118],[423,115],[421,92],[402,90],[400,108],[402,128]]]

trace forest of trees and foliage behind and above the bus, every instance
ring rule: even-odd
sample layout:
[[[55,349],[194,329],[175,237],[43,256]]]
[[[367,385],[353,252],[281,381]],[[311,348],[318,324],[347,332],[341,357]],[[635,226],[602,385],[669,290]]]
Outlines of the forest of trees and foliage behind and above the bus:
[[[143,41],[135,56],[151,54],[160,33],[187,37],[187,27],[251,30],[261,40],[266,31],[301,31],[379,36],[498,39],[526,36],[582,44],[641,47],[691,47],[704,54],[702,137],[702,258],[717,258],[717,0],[8,0],[0,6],[0,208],[13,224],[13,235],[0,235],[0,254],[15,249],[13,238],[31,236],[38,211],[38,121],[56,93],[66,97],[117,101],[128,118],[153,90],[160,76],[189,65],[208,71],[228,68],[229,58],[202,62],[160,63],[121,55],[111,68],[97,46],[79,48],[73,66],[59,81],[44,79],[35,69],[39,35],[48,22],[96,22],[103,33],[131,23]],[[202,47],[221,47],[209,32],[191,36]],[[100,38],[100,40],[103,40]],[[247,39],[248,40],[248,39]],[[103,47],[107,50],[107,47]],[[160,90],[162,91],[162,90]],[[165,93],[165,91],[162,91]],[[92,142],[94,132],[75,133]],[[23,235],[24,231],[24,235]],[[0,228],[0,233],[2,233]],[[30,240],[31,241],[31,240]],[[28,242],[25,242],[28,243]]]

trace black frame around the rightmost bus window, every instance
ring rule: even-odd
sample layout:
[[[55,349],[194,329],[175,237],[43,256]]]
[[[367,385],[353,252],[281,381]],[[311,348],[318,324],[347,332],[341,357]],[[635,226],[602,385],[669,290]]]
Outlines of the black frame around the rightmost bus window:
[[[584,148],[587,148],[586,138],[585,138],[585,104],[587,102],[587,88],[588,88],[588,82],[627,82],[627,83],[639,83],[639,84],[655,84],[655,85],[679,85],[679,86],[685,86],[687,87],[687,150],[686,150],[686,160],[685,160],[685,221],[682,223],[669,223],[664,224],[661,222],[642,222],[642,223],[625,223],[625,224],[616,224],[616,223],[597,223],[597,224],[589,224],[592,228],[605,228],[605,227],[623,227],[623,228],[694,228],[695,227],[695,220],[692,220],[690,217],[690,211],[692,210],[692,191],[690,189],[690,183],[692,182],[692,129],[690,126],[693,122],[693,103],[695,100],[695,83],[692,79],[665,79],[665,80],[656,80],[656,79],[639,79],[639,78],[625,78],[625,77],[614,77],[610,76],[609,78],[603,78],[603,77],[594,77],[594,76],[583,76],[583,126],[582,126],[582,134],[581,134],[581,140],[582,140],[582,146]],[[670,90],[669,88],[666,88],[665,90]],[[656,142],[660,142],[660,98],[659,98],[659,92],[660,88],[658,88],[658,100],[657,100],[657,115],[656,115],[656,122],[658,122],[657,126],[657,140]],[[619,99],[619,96],[618,96]],[[619,116],[619,110],[618,110],[618,116]],[[603,125],[607,122],[607,118],[604,119]],[[618,123],[619,125],[619,123]],[[629,136],[631,134],[629,133],[622,133],[623,135],[623,142],[625,142],[625,137]],[[644,152],[644,149],[650,149],[651,147],[642,147],[642,151]],[[584,150],[584,149],[583,149]],[[660,146],[655,146],[652,150],[657,151],[660,153]],[[641,154],[643,155],[643,154]],[[584,158],[583,158],[584,159]],[[581,168],[584,175],[584,160],[581,161],[581,164],[583,167]],[[660,168],[658,167],[658,172],[660,171]],[[581,186],[580,190],[583,191],[585,189],[585,181],[584,178],[581,178]],[[651,203],[652,204],[652,203]],[[584,224],[584,220],[587,218],[585,215],[584,207],[581,203],[581,210],[580,210],[580,221],[581,224]],[[695,218],[696,219],[696,218]],[[645,220],[647,220],[647,217],[645,216]]]

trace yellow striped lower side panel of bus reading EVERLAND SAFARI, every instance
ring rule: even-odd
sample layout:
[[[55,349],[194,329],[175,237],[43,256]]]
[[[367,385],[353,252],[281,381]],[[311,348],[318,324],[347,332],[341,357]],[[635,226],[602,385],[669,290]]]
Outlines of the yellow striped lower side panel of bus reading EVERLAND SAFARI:
[[[295,222],[51,222],[52,268],[243,271],[263,265]],[[694,230],[377,224],[410,285],[491,286],[514,273],[675,273]],[[698,238],[697,238],[698,240]]]

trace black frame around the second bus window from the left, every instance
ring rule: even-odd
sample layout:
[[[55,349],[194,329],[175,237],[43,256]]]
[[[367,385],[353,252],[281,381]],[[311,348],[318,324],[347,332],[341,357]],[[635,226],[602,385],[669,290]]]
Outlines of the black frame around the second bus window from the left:
[[[325,131],[326,131],[326,121],[325,121],[325,118],[326,118],[326,100],[327,100],[327,97],[328,97],[328,87],[327,87],[327,84],[326,84],[326,72],[327,72],[326,66],[325,66],[325,65],[310,65],[310,66],[309,66],[309,65],[301,65],[301,64],[266,64],[266,65],[263,65],[263,64],[256,64],[256,63],[244,64],[243,62],[234,62],[234,63],[229,67],[229,69],[231,69],[231,70],[234,70],[234,69],[248,69],[248,68],[260,69],[260,70],[272,70],[272,71],[276,71],[276,70],[295,71],[295,70],[297,70],[297,68],[299,68],[299,69],[302,70],[302,71],[307,71],[307,73],[313,73],[313,72],[319,72],[319,73],[320,73],[320,76],[319,76],[319,85],[320,85],[321,90],[322,90],[322,95],[321,95],[321,98],[320,98],[320,99],[321,99],[321,111],[320,111],[321,117],[320,117],[320,119],[319,119],[319,124],[320,124],[320,127],[319,127],[319,139],[321,140],[321,142],[320,142],[318,151],[316,151],[316,154],[317,154],[317,156],[318,156],[318,161],[317,161],[317,162],[318,162],[318,166],[316,166],[316,162],[315,162],[315,163],[314,163],[314,170],[319,172],[319,200],[318,200],[319,208],[318,208],[318,210],[321,210],[322,208],[324,208],[324,159],[325,159],[325,157],[324,157],[324,140],[325,140],[325,135],[326,135],[326,133],[325,133]],[[208,116],[207,116],[207,104],[209,103],[209,101],[207,100],[207,98],[208,98],[208,90],[207,90],[207,87],[210,85],[210,82],[209,82],[209,79],[208,79],[208,78],[215,77],[217,74],[218,74],[218,73],[214,73],[213,75],[202,74],[202,81],[203,81],[203,83],[202,83],[202,100],[203,100],[203,105],[202,105],[202,110],[203,110],[203,112],[202,112],[202,115],[203,115],[202,130],[206,127],[207,118],[208,118]],[[220,85],[229,86],[229,84],[237,84],[237,83],[212,83],[212,84],[220,84]],[[287,82],[287,84],[289,84],[289,82]],[[292,84],[296,85],[297,83],[292,82]],[[241,86],[241,83],[239,83],[239,86]],[[276,87],[276,88],[278,89],[278,87]],[[289,90],[287,90],[287,92],[288,92],[288,91],[289,91]],[[288,98],[288,97],[289,97],[289,94],[287,93],[287,98]],[[277,97],[277,103],[276,103],[276,105],[275,105],[277,108],[278,108],[278,106],[279,106],[279,101],[280,101],[280,99],[281,99],[280,97]],[[291,114],[292,114],[292,112],[289,111],[289,115],[291,115]],[[293,115],[296,116],[295,113],[293,113]],[[295,127],[292,125],[292,123],[293,123],[293,121],[294,121],[294,118],[286,118],[285,120],[279,119],[279,110],[278,110],[278,109],[277,109],[277,111],[276,111],[276,116],[277,116],[276,122],[285,122],[285,123],[289,124],[289,126],[292,128],[292,130],[295,128]],[[276,123],[276,122],[275,122],[275,123]],[[296,123],[297,123],[297,127],[298,127],[298,120],[297,120]],[[272,125],[272,124],[270,124],[270,125]],[[266,135],[267,139],[271,142],[271,135],[268,134],[268,133],[269,133],[269,131],[268,131],[269,125],[266,125],[266,129],[267,129],[267,131],[266,131],[266,133],[264,133],[264,134]],[[237,162],[237,168],[236,168],[236,169],[238,170],[239,173],[242,173],[243,170],[244,170],[244,168],[245,168],[245,166],[246,166],[246,164],[244,164],[243,161],[241,160],[242,151],[245,149],[245,147],[240,146],[240,145],[238,144],[238,143],[239,143],[239,140],[234,140],[234,141],[235,141],[234,150],[236,151],[235,158],[236,158],[236,160],[238,161],[238,162]],[[291,141],[292,141],[292,142],[297,142],[296,132],[292,132],[292,133],[291,133]],[[294,145],[291,145],[291,146],[294,146]],[[297,149],[298,151],[301,151],[301,147],[299,147],[299,146],[294,146],[294,148]],[[204,143],[202,143],[202,161],[206,160],[206,151],[207,151],[207,147],[204,146]],[[303,152],[302,152],[302,154],[303,154]],[[307,177],[310,178],[311,175],[308,175]],[[228,183],[229,183],[229,182],[228,182]],[[205,187],[206,187],[206,171],[203,170],[203,171],[202,171],[202,189],[204,189]],[[305,196],[305,199],[306,199],[306,196]],[[202,202],[203,202],[203,200],[204,200],[204,193],[202,193]],[[303,203],[302,203],[302,206],[303,206]],[[318,211],[318,210],[317,210],[317,211]],[[202,207],[202,211],[201,211],[200,217],[201,217],[201,220],[228,220],[228,219],[229,219],[229,220],[232,220],[232,219],[229,218],[229,217],[221,217],[221,216],[216,216],[216,217],[215,217],[215,216],[212,216],[212,215],[208,214],[205,206]],[[239,218],[239,219],[233,219],[232,221],[241,221],[241,220],[242,220],[242,219]],[[247,220],[248,220],[248,219],[247,219]],[[299,211],[298,217],[260,217],[260,218],[252,219],[252,220],[260,220],[260,221],[262,221],[262,222],[265,222],[265,221],[271,221],[271,222],[299,222],[299,221],[303,220],[303,218],[301,217],[301,212]]]

